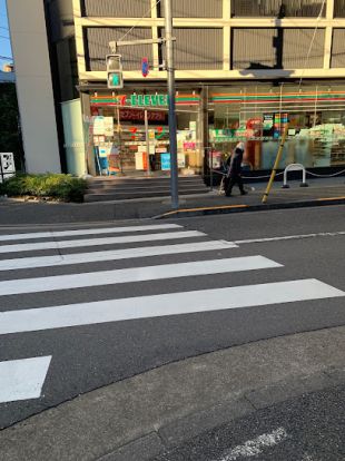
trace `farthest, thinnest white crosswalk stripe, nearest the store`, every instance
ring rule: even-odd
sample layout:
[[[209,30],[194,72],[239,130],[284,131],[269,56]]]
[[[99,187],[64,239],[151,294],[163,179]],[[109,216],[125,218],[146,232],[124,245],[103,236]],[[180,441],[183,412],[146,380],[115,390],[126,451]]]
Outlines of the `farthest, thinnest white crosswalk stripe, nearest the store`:
[[[8,234],[0,235],[0,242],[10,241],[27,241],[31,238],[57,238],[57,237],[72,237],[77,235],[100,235],[100,234],[119,234],[134,233],[145,230],[161,230],[161,229],[177,229],[181,228],[178,224],[150,224],[145,226],[126,226],[126,227],[93,227],[87,229],[76,230],[49,230],[49,232],[31,232],[27,234]]]

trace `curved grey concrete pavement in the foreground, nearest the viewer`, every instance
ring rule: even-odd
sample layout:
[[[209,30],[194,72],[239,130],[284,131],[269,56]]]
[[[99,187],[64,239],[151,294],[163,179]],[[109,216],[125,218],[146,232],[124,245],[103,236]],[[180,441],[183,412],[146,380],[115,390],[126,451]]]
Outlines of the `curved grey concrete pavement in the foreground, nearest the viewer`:
[[[345,326],[171,363],[0,431],[6,461],[147,461],[298,395],[345,383]]]

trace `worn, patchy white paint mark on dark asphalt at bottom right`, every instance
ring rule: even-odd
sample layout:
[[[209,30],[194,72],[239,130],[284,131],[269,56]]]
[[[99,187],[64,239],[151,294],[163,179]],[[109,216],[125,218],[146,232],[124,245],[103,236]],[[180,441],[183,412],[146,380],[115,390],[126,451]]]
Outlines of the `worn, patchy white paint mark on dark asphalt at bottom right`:
[[[240,458],[257,457],[265,448],[275,447],[287,438],[284,428],[278,428],[269,434],[263,434],[254,440],[248,440],[243,445],[237,445],[224,453],[218,461],[236,461]]]

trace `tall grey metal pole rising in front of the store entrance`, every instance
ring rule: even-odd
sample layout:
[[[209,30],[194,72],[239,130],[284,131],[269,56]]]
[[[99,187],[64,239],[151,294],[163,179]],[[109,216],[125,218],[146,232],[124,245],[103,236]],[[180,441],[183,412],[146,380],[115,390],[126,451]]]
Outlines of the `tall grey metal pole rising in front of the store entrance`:
[[[178,208],[178,165],[176,140],[176,111],[175,111],[175,68],[174,68],[174,38],[172,38],[172,8],[171,0],[165,2],[165,29],[166,29],[166,59],[168,72],[168,100],[169,100],[169,144],[170,144],[170,175],[171,175],[171,207]]]

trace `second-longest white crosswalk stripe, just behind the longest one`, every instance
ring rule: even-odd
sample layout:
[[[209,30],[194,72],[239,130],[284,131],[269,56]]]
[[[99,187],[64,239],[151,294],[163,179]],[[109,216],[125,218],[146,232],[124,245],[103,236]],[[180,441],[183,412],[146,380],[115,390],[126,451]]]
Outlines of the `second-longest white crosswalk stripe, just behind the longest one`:
[[[20,278],[0,282],[0,296],[81,288],[87,286],[114,285],[118,283],[157,281],[194,275],[253,271],[269,267],[282,267],[282,264],[267,259],[264,256],[245,256],[117,271],[90,272],[85,274],[56,275],[51,277]]]

